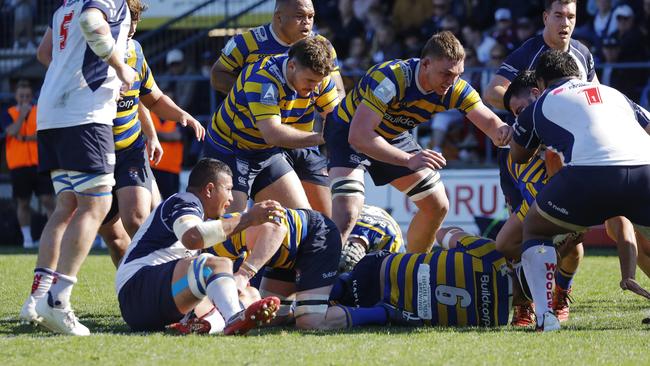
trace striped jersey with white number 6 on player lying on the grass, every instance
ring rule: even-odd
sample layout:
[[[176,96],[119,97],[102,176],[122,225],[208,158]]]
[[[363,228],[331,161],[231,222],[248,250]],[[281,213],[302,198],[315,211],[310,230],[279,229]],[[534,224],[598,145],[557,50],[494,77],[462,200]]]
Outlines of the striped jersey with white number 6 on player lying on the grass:
[[[511,279],[490,239],[467,236],[458,247],[429,254],[393,254],[382,264],[383,301],[428,325],[506,325]]]

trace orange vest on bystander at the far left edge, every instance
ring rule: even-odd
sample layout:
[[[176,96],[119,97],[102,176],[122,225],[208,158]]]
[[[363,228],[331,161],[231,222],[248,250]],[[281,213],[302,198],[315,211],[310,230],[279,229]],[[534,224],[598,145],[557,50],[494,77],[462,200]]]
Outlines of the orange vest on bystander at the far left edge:
[[[10,107],[7,112],[16,123],[20,111],[17,106]],[[29,111],[25,122],[20,127],[20,134],[23,136],[36,135],[36,106],[32,106]],[[7,135],[7,167],[9,169],[16,169],[28,166],[38,165],[38,144],[36,141],[20,141],[15,137]]]

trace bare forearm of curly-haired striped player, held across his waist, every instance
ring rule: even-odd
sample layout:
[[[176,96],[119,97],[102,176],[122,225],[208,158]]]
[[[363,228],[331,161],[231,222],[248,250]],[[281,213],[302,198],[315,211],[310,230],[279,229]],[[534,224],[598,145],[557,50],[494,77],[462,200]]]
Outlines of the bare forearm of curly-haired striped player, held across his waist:
[[[317,132],[305,132],[282,124],[280,116],[273,116],[257,122],[264,141],[269,145],[289,149],[318,146],[325,143],[323,135]]]

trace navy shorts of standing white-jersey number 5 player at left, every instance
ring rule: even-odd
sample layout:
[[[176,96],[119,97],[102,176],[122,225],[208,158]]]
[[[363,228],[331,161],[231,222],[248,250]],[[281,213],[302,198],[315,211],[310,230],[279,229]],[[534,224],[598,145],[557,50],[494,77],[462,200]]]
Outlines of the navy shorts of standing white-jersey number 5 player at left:
[[[80,126],[38,131],[38,170],[73,170],[110,174],[115,170],[115,142],[110,125]]]

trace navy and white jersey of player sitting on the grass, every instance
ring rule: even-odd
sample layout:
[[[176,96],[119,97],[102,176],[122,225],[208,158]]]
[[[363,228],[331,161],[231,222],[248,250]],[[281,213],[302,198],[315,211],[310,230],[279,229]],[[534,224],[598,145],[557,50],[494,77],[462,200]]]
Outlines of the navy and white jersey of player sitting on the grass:
[[[198,255],[198,250],[187,249],[174,233],[174,222],[185,215],[203,220],[201,201],[188,192],[169,197],[149,215],[117,268],[115,291],[118,295],[124,284],[141,268]]]

